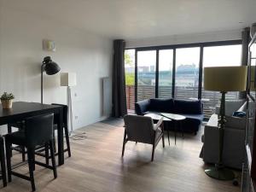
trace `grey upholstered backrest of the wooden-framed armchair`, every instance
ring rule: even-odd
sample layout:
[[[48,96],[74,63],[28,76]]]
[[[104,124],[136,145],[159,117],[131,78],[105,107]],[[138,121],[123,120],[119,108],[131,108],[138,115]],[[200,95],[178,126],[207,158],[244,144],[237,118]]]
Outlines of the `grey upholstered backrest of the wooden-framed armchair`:
[[[150,117],[127,114],[124,117],[125,131],[129,141],[154,143],[154,123]]]

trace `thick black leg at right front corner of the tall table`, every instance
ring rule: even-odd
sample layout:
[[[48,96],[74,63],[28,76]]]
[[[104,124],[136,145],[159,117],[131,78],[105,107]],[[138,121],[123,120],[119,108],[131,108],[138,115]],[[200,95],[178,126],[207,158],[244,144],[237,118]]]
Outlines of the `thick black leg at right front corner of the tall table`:
[[[63,108],[59,109],[58,118],[58,160],[59,166],[64,164]]]

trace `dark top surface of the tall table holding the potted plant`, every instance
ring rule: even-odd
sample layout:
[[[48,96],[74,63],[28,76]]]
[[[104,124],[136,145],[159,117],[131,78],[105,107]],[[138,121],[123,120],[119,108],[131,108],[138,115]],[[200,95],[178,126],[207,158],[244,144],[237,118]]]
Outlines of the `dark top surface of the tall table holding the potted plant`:
[[[34,113],[38,111],[61,108],[56,105],[41,104],[39,102],[13,102],[13,108],[3,109],[0,104],[0,118],[21,113]]]

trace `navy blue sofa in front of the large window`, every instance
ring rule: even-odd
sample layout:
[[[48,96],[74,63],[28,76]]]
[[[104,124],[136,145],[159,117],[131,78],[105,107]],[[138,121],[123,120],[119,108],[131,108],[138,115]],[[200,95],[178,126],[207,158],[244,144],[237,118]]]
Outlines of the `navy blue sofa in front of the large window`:
[[[201,122],[204,118],[203,104],[201,100],[188,101],[177,99],[147,99],[141,102],[135,103],[135,112],[138,115],[144,115],[146,113],[177,113],[186,117],[183,121],[183,131],[196,132],[201,126]],[[165,124],[165,128],[168,130],[174,129],[173,122]]]

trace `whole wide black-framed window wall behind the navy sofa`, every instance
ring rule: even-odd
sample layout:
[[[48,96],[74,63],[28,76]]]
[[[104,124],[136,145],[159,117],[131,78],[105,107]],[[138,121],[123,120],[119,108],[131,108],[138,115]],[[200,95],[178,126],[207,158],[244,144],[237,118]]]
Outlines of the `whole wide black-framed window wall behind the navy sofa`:
[[[239,65],[241,40],[126,49],[127,107],[134,109],[134,102],[154,97],[201,99],[209,118],[220,94],[204,90],[203,67]],[[238,92],[228,92],[226,99],[238,96]]]

